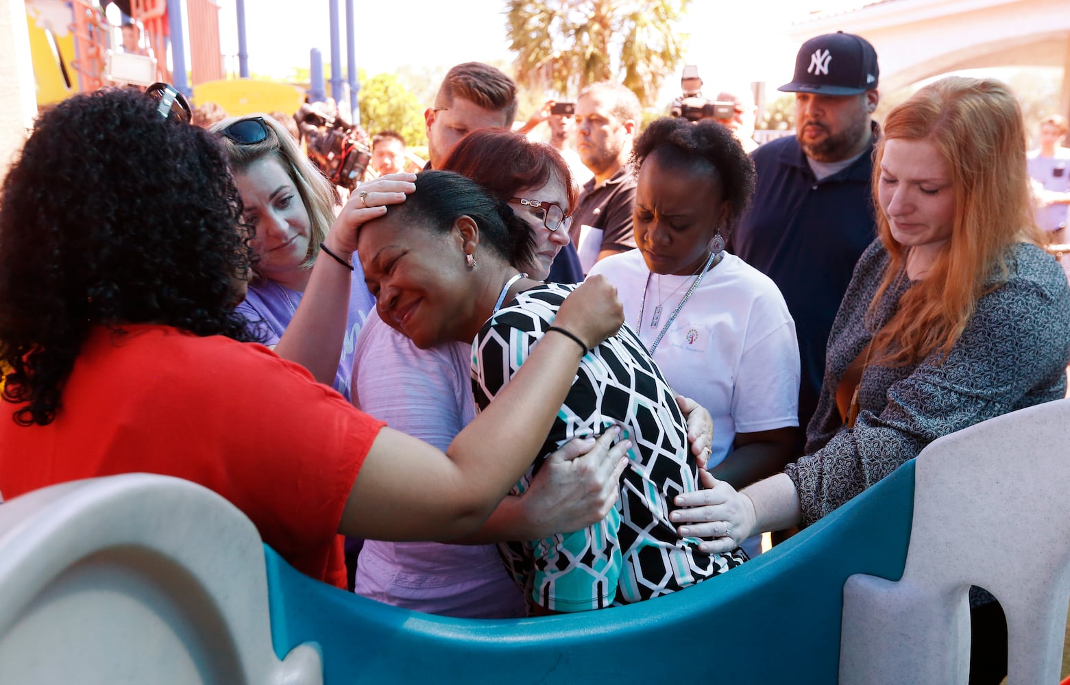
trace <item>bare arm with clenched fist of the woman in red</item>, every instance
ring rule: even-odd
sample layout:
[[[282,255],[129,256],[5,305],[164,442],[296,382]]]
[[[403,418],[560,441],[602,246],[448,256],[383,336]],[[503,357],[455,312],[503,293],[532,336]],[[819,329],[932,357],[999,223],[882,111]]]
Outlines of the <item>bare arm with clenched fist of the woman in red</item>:
[[[623,318],[616,290],[596,278],[566,298],[555,324],[594,345],[615,333]],[[397,431],[380,431],[349,495],[341,532],[380,540],[452,540],[475,531],[546,439],[580,353],[563,334],[545,336],[446,454]],[[509,449],[503,450],[505,445]]]

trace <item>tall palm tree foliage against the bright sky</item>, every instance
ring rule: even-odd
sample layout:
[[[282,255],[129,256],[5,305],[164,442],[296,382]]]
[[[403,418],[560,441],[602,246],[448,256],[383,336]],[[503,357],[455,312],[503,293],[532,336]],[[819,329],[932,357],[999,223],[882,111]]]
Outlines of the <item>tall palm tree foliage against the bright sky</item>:
[[[507,36],[522,85],[574,99],[618,80],[644,107],[683,60],[690,0],[508,0]]]

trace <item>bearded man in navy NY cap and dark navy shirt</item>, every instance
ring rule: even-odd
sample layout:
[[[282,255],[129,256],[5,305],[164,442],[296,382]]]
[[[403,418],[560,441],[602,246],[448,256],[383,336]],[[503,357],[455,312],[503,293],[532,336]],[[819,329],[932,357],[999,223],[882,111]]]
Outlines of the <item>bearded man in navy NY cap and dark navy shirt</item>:
[[[832,318],[876,235],[877,76],[876,51],[860,36],[837,32],[802,44],[795,78],[778,89],[795,93],[795,137],[753,152],[753,203],[729,234],[729,249],[777,283],[795,320],[804,427],[817,405]]]

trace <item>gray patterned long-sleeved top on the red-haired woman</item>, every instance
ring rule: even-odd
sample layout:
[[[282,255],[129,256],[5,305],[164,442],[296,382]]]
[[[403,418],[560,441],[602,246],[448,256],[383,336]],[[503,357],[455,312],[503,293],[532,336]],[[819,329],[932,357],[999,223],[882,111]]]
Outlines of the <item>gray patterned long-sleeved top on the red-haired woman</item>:
[[[947,359],[942,363],[937,353],[914,367],[870,364],[858,389],[855,427],[844,429],[836,389],[872,338],[866,311],[888,260],[877,239],[855,265],[828,339],[821,400],[807,427],[808,456],[784,469],[798,491],[804,525],[942,435],[1066,394],[1070,289],[1054,258],[1021,243],[1011,250],[1007,281],[978,300]],[[874,330],[891,317],[908,285],[904,275],[888,289],[875,310]]]

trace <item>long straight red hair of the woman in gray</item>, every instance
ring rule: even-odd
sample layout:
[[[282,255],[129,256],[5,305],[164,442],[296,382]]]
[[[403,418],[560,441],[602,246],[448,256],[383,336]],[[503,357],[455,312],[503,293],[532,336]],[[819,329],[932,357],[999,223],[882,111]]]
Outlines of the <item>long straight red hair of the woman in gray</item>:
[[[928,140],[951,173],[956,216],[951,238],[926,278],[903,294],[873,339],[873,358],[890,365],[946,356],[987,292],[1006,280],[1015,243],[1042,243],[1033,222],[1022,112],[1011,90],[993,79],[951,76],[931,83],[888,114],[873,165],[877,197],[884,143]],[[908,249],[877,212],[877,233],[891,256],[870,305],[904,277]],[[994,283],[993,283],[994,279]]]

